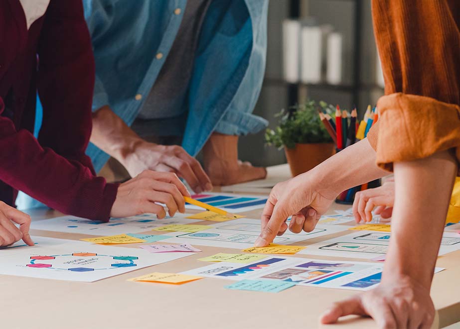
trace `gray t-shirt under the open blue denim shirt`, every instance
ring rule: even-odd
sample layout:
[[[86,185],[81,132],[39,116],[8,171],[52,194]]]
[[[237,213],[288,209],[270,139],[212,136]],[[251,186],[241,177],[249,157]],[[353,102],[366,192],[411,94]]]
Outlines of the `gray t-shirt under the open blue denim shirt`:
[[[133,129],[141,136],[182,135],[201,25],[211,0],[189,0],[169,54]]]

